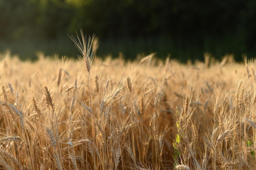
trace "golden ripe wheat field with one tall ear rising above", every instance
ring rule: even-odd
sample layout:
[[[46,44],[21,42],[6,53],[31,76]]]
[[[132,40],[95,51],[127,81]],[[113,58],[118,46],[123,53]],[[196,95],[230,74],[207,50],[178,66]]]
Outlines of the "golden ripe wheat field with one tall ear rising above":
[[[0,169],[255,169],[256,63],[0,56]],[[85,43],[85,44],[84,44]]]

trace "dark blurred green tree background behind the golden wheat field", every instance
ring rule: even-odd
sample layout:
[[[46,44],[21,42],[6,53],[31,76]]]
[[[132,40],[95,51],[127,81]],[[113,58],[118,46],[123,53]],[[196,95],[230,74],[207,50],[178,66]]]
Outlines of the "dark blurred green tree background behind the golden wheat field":
[[[96,34],[101,57],[256,55],[255,0],[0,0],[0,52],[76,57],[67,35],[81,28]]]

